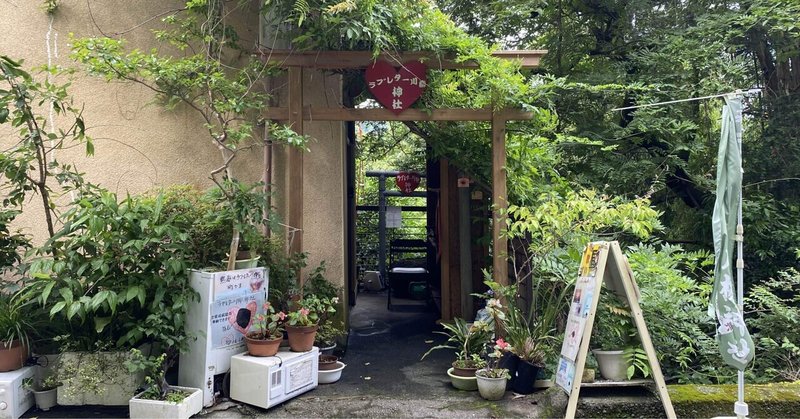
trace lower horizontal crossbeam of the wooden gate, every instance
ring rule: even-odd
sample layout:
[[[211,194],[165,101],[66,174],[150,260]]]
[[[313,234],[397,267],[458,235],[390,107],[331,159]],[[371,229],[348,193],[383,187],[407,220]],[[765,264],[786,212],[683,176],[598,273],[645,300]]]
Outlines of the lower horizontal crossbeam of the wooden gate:
[[[288,121],[289,108],[267,108],[264,118],[273,121]],[[506,121],[533,119],[532,112],[519,110],[503,110],[496,114]],[[385,108],[315,108],[303,107],[303,119],[306,121],[491,121],[491,109],[406,109],[395,115]]]

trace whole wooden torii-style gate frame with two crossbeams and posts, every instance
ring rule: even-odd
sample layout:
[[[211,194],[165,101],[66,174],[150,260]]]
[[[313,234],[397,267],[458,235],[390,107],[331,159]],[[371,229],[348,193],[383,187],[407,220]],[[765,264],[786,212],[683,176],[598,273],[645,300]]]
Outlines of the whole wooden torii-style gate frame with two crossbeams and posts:
[[[497,51],[493,55],[503,59],[514,59],[520,62],[521,68],[536,68],[541,57],[547,51]],[[515,109],[406,109],[399,115],[388,109],[354,109],[323,108],[305,106],[303,100],[304,69],[338,70],[364,69],[374,63],[375,56],[371,51],[289,51],[262,50],[261,57],[265,62],[287,68],[288,106],[268,107],[263,116],[265,119],[287,122],[298,134],[304,133],[305,121],[488,121],[492,125],[492,204],[494,208],[492,220],[493,243],[493,278],[499,284],[508,284],[507,249],[505,237],[505,214],[507,201],[506,172],[506,123],[512,120],[529,120],[534,116],[531,112]],[[471,61],[457,62],[448,57],[437,57],[426,52],[403,52],[401,54],[383,53],[379,59],[396,63],[423,60],[430,67],[439,69],[475,69],[478,64]],[[431,65],[432,64],[432,65]],[[290,251],[303,251],[303,152],[290,150],[287,161],[288,191],[287,223],[296,228],[297,234],[291,242]],[[449,278],[448,278],[449,279]],[[444,282],[444,281],[442,281]],[[444,285],[443,285],[444,286]],[[444,311],[444,310],[443,310]],[[443,313],[444,315],[444,313]],[[449,313],[448,313],[449,315]]]

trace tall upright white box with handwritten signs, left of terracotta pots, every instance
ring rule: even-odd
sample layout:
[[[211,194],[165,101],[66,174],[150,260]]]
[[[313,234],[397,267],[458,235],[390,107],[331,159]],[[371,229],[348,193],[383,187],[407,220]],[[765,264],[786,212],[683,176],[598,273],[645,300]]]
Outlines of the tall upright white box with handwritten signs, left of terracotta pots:
[[[180,355],[178,384],[203,390],[203,406],[210,406],[214,404],[214,377],[228,372],[231,357],[245,350],[242,333],[228,321],[225,312],[248,305],[236,303],[240,300],[254,299],[260,309],[267,297],[269,271],[266,268],[191,270],[189,283],[200,294],[200,300],[193,301],[187,310],[186,329],[197,339],[190,341],[188,351]]]

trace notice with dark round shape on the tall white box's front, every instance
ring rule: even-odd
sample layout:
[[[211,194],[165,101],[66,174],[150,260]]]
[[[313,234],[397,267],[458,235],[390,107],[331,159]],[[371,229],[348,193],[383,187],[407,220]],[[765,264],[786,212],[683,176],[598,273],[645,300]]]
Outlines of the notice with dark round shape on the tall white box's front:
[[[211,346],[223,348],[236,345],[252,323],[266,294],[255,292],[238,297],[220,298],[211,304]]]

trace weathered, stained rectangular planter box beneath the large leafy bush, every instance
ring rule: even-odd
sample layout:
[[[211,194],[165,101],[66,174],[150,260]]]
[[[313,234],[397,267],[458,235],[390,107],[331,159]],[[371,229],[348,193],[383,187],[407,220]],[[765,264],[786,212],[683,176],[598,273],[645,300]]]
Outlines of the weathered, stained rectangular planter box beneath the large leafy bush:
[[[64,352],[58,369],[58,404],[125,406],[144,383],[144,373],[125,367],[130,352]]]

